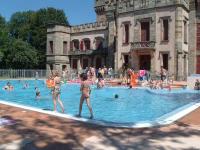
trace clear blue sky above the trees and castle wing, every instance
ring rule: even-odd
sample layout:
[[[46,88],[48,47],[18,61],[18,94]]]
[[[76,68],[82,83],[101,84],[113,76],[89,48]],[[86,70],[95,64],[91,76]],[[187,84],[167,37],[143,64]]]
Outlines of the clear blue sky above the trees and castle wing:
[[[63,9],[71,25],[96,21],[94,0],[0,0],[0,14],[6,20],[17,11],[46,7]]]

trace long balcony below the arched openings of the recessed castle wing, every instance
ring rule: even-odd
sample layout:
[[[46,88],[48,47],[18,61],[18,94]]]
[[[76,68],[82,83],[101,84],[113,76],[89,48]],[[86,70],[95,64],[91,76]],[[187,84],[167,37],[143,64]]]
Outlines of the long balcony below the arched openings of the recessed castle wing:
[[[98,49],[98,50],[74,50],[74,51],[69,51],[68,55],[69,56],[79,56],[79,55],[106,55],[107,54],[107,48],[103,49]]]

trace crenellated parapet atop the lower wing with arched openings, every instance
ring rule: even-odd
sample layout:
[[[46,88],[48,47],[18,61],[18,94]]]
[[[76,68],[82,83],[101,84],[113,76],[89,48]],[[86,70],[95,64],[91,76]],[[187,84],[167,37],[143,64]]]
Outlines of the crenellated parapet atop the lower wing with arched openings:
[[[81,33],[107,29],[108,22],[94,22],[71,27],[71,33]]]

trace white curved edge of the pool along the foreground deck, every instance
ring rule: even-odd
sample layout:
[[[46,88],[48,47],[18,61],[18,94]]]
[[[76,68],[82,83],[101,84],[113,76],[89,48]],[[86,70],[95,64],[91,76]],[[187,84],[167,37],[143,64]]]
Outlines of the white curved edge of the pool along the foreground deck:
[[[13,102],[6,102],[3,100],[0,100],[0,104],[17,107],[17,108],[21,108],[21,109],[25,109],[25,110],[29,110],[29,111],[39,112],[39,113],[43,113],[46,115],[80,121],[80,122],[84,122],[84,123],[95,124],[95,125],[100,125],[100,126],[104,126],[104,127],[115,127],[115,128],[150,128],[150,127],[166,126],[166,125],[170,125],[170,124],[174,123],[175,121],[183,118],[184,116],[188,115],[189,113],[191,113],[192,111],[194,111],[200,107],[200,102],[189,103],[187,105],[184,105],[178,109],[175,109],[172,112],[169,112],[169,113],[157,118],[155,121],[146,121],[146,122],[129,123],[129,124],[126,124],[126,123],[125,124],[123,124],[123,123],[117,124],[117,123],[109,123],[109,122],[98,121],[98,120],[90,120],[90,119],[86,119],[86,118],[78,118],[78,117],[74,117],[74,116],[68,115],[68,114],[62,114],[62,113],[58,113],[58,112],[42,110],[39,108],[24,106],[24,105],[20,105],[20,104],[13,103]]]

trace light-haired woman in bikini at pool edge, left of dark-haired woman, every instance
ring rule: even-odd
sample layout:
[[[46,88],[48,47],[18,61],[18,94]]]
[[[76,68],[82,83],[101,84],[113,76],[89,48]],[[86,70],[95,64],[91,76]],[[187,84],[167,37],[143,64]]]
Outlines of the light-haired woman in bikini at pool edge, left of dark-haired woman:
[[[60,84],[61,84],[61,79],[59,77],[59,73],[56,72],[54,77],[54,87],[52,89],[54,111],[56,111],[56,106],[58,102],[61,106],[62,112],[64,113],[64,106],[60,99],[60,93],[61,93]]]

